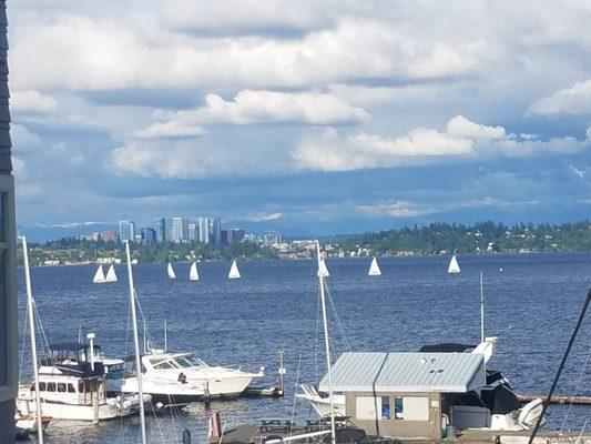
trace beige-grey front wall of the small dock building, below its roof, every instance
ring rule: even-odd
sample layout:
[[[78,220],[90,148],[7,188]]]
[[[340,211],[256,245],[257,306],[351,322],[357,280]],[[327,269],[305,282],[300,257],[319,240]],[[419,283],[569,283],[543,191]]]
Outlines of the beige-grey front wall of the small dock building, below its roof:
[[[356,398],[357,396],[420,396],[428,397],[429,421],[408,421],[394,420],[394,404],[391,408],[391,420],[381,420],[380,413],[373,421],[357,418]],[[346,412],[351,416],[351,421],[358,427],[363,428],[369,435],[393,436],[393,437],[411,437],[411,438],[441,438],[441,395],[439,393],[346,393]]]

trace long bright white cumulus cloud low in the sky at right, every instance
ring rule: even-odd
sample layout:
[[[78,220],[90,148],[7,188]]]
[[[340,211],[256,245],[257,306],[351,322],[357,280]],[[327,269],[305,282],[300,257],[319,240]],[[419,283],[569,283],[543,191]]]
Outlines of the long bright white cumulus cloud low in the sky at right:
[[[519,140],[502,127],[489,127],[457,115],[448,122],[446,131],[417,128],[397,138],[368,133],[342,135],[328,128],[319,137],[299,143],[292,158],[302,169],[348,171],[496,155],[574,154],[589,147],[589,130],[582,141],[571,137]]]

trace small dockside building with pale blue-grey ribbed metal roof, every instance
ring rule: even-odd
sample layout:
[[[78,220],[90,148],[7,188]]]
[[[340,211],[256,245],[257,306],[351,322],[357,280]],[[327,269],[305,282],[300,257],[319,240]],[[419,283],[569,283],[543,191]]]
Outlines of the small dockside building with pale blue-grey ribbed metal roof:
[[[479,353],[344,353],[332,370],[347,416],[381,437],[440,440],[456,398],[487,384]],[[319,390],[328,392],[327,376]]]

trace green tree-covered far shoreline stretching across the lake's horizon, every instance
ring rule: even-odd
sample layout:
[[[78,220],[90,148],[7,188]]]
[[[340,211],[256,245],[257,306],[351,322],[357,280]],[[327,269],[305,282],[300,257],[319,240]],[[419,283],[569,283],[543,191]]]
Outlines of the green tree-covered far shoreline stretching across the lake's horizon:
[[[327,256],[393,256],[451,253],[528,253],[591,251],[591,222],[506,225],[479,222],[472,225],[431,223],[396,230],[320,238]],[[230,245],[198,242],[133,244],[137,262],[177,262],[215,260],[306,259],[314,254],[312,240],[284,240],[265,245],[251,241]],[[75,236],[30,244],[32,265],[119,263],[124,260],[119,242],[89,241]],[[22,263],[22,252],[18,254]]]

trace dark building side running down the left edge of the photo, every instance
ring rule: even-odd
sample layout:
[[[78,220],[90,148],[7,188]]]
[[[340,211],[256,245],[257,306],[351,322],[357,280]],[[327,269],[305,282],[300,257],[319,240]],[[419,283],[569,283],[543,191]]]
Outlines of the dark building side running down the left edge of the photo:
[[[8,110],[7,14],[0,0],[0,443],[14,443],[18,389],[18,299],[10,114]]]

